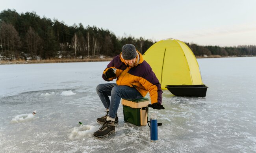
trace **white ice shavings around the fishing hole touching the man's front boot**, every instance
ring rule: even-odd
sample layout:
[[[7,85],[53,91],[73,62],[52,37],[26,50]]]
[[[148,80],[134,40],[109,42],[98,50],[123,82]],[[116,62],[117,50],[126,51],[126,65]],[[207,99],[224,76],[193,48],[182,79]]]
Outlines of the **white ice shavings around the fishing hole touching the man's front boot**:
[[[79,127],[74,127],[69,135],[70,139],[78,139],[84,137],[92,137],[93,133],[98,130],[98,127],[91,125],[81,125]]]

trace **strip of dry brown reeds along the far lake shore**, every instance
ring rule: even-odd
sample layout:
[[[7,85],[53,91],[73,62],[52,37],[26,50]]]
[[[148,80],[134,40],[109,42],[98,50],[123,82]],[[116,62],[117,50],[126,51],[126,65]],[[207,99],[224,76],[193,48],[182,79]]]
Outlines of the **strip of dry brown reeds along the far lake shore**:
[[[220,55],[210,55],[210,56],[196,56],[196,58],[226,58],[226,57],[253,57],[253,56],[220,56]],[[48,59],[48,60],[0,60],[0,65],[6,64],[44,64],[44,63],[72,63],[72,62],[105,62],[111,61],[113,58],[58,58],[58,59]]]

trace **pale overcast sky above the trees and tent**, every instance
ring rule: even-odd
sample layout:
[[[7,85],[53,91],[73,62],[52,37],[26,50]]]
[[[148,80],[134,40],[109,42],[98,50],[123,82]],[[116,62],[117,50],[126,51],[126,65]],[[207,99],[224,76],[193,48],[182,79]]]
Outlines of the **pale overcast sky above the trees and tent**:
[[[198,45],[256,45],[256,0],[0,0],[0,11],[35,11],[68,26],[82,23],[116,36]]]

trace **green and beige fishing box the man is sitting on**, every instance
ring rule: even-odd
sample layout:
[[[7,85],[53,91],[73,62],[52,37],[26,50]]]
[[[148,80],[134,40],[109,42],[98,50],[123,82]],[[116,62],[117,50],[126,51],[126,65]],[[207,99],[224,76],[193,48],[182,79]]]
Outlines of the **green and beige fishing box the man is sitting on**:
[[[122,99],[122,108],[124,111],[124,121],[136,126],[145,126],[148,121],[147,107],[148,98],[141,99]]]

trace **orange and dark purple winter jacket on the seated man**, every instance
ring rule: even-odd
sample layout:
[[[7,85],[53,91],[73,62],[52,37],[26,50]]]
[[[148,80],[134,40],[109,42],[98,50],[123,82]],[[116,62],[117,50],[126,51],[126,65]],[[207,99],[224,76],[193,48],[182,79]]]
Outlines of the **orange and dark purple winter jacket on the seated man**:
[[[115,73],[116,76],[106,79],[104,78],[104,74],[110,68],[117,69]],[[135,87],[143,97],[145,97],[149,92],[151,104],[156,102],[159,104],[162,103],[163,91],[161,90],[158,78],[156,78],[152,68],[138,51],[135,66],[127,66],[121,53],[111,60],[108,67],[104,70],[102,78],[106,81],[112,81],[117,78],[118,86]]]

